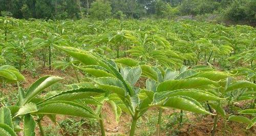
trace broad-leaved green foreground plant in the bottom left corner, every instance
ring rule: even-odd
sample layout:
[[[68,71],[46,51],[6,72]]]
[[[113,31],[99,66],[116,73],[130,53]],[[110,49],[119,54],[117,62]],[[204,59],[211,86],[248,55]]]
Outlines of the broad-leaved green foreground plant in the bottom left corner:
[[[77,99],[85,99],[83,104],[100,104],[93,99],[104,93],[102,89],[96,88],[78,88],[66,90],[54,95],[49,95],[46,99],[36,98],[44,89],[60,81],[60,77],[45,76],[35,81],[28,89],[18,90],[18,103],[16,106],[2,107],[0,109],[0,127],[1,133],[16,135],[12,120],[22,118],[24,123],[24,135],[35,135],[36,123],[40,126],[40,120],[47,115],[55,122],[55,115],[69,115],[83,118],[99,119],[93,109],[87,105],[78,103]],[[80,98],[79,98],[79,97]],[[35,117],[34,117],[35,116]],[[37,118],[35,121],[34,119]],[[15,130],[16,131],[16,130]],[[20,130],[19,130],[20,131]],[[43,130],[40,131],[43,132]]]

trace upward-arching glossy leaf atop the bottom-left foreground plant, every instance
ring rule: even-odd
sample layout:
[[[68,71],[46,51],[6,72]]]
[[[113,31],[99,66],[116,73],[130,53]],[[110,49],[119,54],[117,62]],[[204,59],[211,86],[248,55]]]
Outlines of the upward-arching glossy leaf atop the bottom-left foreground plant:
[[[54,76],[45,76],[36,80],[28,89],[23,104],[30,102],[42,90],[60,81],[62,78]]]

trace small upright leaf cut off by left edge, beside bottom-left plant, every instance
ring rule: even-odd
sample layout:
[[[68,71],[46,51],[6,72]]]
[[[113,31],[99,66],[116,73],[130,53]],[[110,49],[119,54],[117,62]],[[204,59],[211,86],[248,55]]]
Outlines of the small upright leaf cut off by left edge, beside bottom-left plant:
[[[0,109],[0,123],[4,123],[13,129],[11,111],[7,107]]]

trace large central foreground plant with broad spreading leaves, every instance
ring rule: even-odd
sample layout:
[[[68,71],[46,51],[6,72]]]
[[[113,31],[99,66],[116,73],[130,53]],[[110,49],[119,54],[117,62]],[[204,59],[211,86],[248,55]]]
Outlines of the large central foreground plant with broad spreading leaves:
[[[92,75],[94,77],[92,78],[92,81],[96,83],[96,87],[116,94],[125,105],[125,109],[122,109],[123,107],[120,108],[124,111],[128,110],[134,121],[137,121],[137,119],[140,118],[140,116],[142,116],[151,106],[172,107],[193,111],[199,114],[211,114],[206,111],[198,101],[221,100],[221,98],[204,90],[185,90],[186,88],[206,89],[207,85],[218,86],[217,82],[203,78],[204,75],[201,75],[200,78],[189,78],[190,76],[197,75],[198,73],[194,70],[187,70],[186,66],[182,66],[180,72],[177,72],[175,75],[170,74],[171,71],[169,69],[165,72],[161,67],[152,67],[148,65],[136,65],[134,67],[121,66],[119,72],[117,64],[111,59],[71,47],[58,48],[81,62],[81,64],[77,66],[78,69]],[[121,65],[127,65],[127,61],[125,59],[118,59],[117,62]],[[134,65],[135,64],[136,63],[134,63]],[[132,64],[130,63],[128,65]],[[103,75],[105,76],[102,77],[92,73],[92,71],[83,69],[83,67],[87,66],[90,66],[95,72],[104,72],[105,74]],[[222,79],[225,76],[224,73],[211,73],[211,75],[212,74],[215,74],[217,77],[213,78],[214,80]],[[147,89],[149,90],[142,90],[134,86],[141,76],[150,78],[147,80]],[[172,80],[174,78],[177,80]],[[166,81],[164,81],[164,79]],[[177,85],[175,82],[172,85],[170,82],[173,81],[180,82],[180,85]],[[186,85],[184,86],[184,84]],[[184,90],[178,90],[182,88],[184,88]],[[164,92],[166,90],[175,91],[160,95],[154,92],[151,93],[151,90],[154,92]],[[167,95],[168,93],[169,95]],[[143,94],[146,96],[142,97]],[[112,102],[112,104],[114,103]],[[114,111],[116,112],[116,116],[119,116],[116,108],[114,108]],[[134,130],[131,129],[130,134],[133,133]]]

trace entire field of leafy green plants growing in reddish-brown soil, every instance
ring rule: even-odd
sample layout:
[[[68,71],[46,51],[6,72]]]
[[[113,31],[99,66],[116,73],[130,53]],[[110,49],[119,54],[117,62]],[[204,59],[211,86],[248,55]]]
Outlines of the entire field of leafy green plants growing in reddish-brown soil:
[[[256,30],[0,17],[0,135],[255,135]]]

